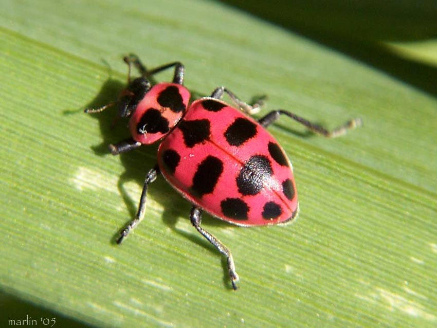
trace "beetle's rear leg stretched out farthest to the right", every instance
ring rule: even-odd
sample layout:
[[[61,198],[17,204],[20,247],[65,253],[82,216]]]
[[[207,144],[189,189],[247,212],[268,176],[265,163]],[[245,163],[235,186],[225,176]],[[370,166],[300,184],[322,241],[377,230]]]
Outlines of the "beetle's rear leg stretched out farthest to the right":
[[[260,118],[258,122],[264,126],[267,127],[271,123],[275,122],[281,114],[284,114],[288,116],[289,118],[294,119],[295,121],[298,121],[302,125],[306,126],[310,131],[313,131],[315,133],[321,134],[322,136],[325,136],[327,138],[335,138],[338,136],[344,135],[348,130],[354,129],[355,127],[362,125],[362,120],[360,118],[355,118],[352,120],[349,120],[345,122],[343,125],[338,126],[333,131],[327,131],[323,126],[320,126],[318,124],[312,123],[300,116],[297,116],[296,114],[284,110],[277,110],[272,111],[268,113],[266,116]]]

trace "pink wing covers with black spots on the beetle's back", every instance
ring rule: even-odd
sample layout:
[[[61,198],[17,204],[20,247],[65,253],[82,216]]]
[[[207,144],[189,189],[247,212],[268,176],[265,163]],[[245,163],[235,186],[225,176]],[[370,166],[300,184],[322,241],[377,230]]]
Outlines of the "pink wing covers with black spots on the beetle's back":
[[[216,111],[206,109],[211,106]],[[161,142],[158,165],[192,204],[230,223],[276,224],[297,213],[292,167],[278,142],[257,121],[221,100],[191,104]]]

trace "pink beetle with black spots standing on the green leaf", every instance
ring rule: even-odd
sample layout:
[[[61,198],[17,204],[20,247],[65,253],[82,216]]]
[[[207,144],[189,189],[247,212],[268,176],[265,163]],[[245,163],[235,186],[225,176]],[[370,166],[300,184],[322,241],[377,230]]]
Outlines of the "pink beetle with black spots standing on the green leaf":
[[[135,218],[121,231],[117,243],[142,220],[149,185],[162,175],[191,204],[194,228],[227,259],[233,289],[239,276],[230,250],[203,227],[202,212],[239,226],[262,226],[291,222],[298,214],[293,167],[266,127],[287,116],[325,137],[337,137],[361,125],[349,120],[332,132],[285,110],[269,112],[259,120],[249,115],[261,102],[249,105],[229,89],[217,87],[210,97],[191,104],[183,85],[184,65],[172,62],[147,70],[134,54],[124,57],[129,66],[128,85],[117,101],[86,113],[99,113],[117,105],[119,116],[129,118],[131,138],[110,144],[113,155],[160,141],[157,165],[146,175]],[[131,80],[131,66],[140,77]],[[149,77],[174,67],[171,83],[151,85]],[[235,108],[222,101],[227,94]]]

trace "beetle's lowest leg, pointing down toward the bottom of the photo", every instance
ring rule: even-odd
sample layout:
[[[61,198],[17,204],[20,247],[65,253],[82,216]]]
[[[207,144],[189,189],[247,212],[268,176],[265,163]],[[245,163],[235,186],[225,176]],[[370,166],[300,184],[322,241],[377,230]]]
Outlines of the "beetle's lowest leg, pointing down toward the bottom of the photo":
[[[231,278],[232,288],[237,289],[236,282],[239,281],[239,277],[235,272],[235,264],[234,260],[232,258],[232,254],[230,250],[223,245],[223,243],[218,240],[214,235],[206,231],[201,227],[202,222],[202,209],[196,206],[193,206],[191,208],[191,214],[190,214],[190,220],[191,224],[196,228],[196,230],[201,233],[212,245],[215,246],[224,256],[226,256],[227,262],[228,262],[228,270],[229,270],[229,277]]]

